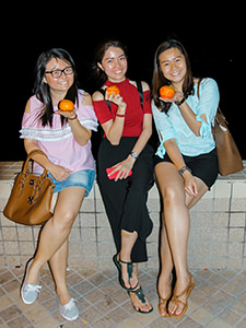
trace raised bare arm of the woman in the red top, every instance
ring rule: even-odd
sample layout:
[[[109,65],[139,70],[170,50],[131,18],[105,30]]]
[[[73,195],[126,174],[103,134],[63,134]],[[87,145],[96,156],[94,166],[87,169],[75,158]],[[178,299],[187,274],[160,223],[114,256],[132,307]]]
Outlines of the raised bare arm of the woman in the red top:
[[[122,97],[120,96],[114,96],[113,94],[108,97],[107,92],[105,94],[105,99],[113,102],[118,106],[117,114],[122,116],[116,116],[115,121],[113,119],[106,121],[105,124],[102,125],[102,128],[106,134],[107,140],[113,144],[113,145],[118,145],[122,136],[122,130],[124,130],[124,124],[125,124],[125,114],[126,114],[126,108],[127,104],[122,101]],[[93,101],[94,102],[99,102],[104,101],[104,96],[102,95],[101,92],[95,92],[93,94]]]

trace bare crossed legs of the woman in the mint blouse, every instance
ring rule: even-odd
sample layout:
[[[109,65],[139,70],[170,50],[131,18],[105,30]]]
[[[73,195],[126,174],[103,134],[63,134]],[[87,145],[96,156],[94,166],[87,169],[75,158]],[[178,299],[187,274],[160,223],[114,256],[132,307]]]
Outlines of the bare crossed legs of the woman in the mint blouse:
[[[196,178],[198,197],[185,192],[183,178],[172,163],[160,163],[155,166],[155,175],[163,198],[164,213],[161,232],[161,273],[157,289],[161,300],[166,300],[172,291],[171,273],[175,267],[176,294],[181,293],[189,283],[187,248],[190,229],[189,209],[206,194],[208,187]],[[186,294],[180,298],[186,304]],[[180,315],[184,306],[169,302],[168,312]],[[161,303],[160,312],[168,316],[166,302]]]

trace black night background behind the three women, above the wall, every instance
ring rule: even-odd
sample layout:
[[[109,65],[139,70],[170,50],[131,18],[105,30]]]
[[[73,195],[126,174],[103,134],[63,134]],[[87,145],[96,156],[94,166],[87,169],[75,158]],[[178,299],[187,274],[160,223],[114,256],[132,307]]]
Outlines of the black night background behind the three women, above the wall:
[[[102,39],[122,40],[129,50],[128,77],[151,85],[154,52],[167,36],[175,36],[185,45],[195,77],[216,80],[221,109],[246,159],[244,9],[235,1],[223,7],[219,3],[11,2],[2,12],[2,19],[7,16],[9,23],[5,20],[1,23],[4,90],[0,161],[25,159],[19,130],[25,104],[32,95],[35,63],[43,50],[67,49],[77,63],[81,87],[93,93],[97,85],[91,79],[91,65],[94,48]]]

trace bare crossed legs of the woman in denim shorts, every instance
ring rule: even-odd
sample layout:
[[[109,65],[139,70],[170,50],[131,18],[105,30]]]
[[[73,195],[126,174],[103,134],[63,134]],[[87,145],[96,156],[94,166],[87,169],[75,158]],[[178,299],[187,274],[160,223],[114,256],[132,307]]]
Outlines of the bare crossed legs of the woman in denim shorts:
[[[34,261],[30,267],[30,272],[27,277],[27,283],[37,284],[38,272],[45,262],[50,260],[52,256],[59,250],[59,248],[67,242],[73,221],[80,210],[81,203],[85,195],[85,189],[81,187],[71,187],[63,189],[59,192],[58,200],[56,203],[54,216],[46,223],[42,233],[37,248],[36,256]],[[66,244],[65,244],[66,245]],[[65,257],[61,267],[65,268],[65,261],[67,262],[67,248],[61,249],[61,253],[58,251],[58,258],[60,256]],[[55,277],[56,286],[59,289],[59,285],[65,284],[66,282],[58,271],[61,269],[58,261],[55,259],[50,261],[51,270]],[[66,271],[65,271],[66,272]],[[65,276],[62,276],[65,277]],[[60,281],[61,280],[61,281]]]

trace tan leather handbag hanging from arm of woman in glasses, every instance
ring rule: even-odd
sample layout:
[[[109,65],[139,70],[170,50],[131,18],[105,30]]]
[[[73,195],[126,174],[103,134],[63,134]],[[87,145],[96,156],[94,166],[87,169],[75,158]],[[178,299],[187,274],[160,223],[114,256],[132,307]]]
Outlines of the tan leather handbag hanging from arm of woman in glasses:
[[[40,150],[34,150],[28,155],[15,179],[3,214],[20,224],[39,225],[52,216],[50,212],[55,185],[45,169],[42,175],[30,173],[30,161]]]

